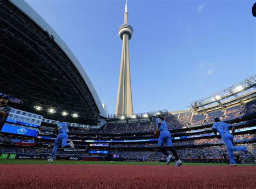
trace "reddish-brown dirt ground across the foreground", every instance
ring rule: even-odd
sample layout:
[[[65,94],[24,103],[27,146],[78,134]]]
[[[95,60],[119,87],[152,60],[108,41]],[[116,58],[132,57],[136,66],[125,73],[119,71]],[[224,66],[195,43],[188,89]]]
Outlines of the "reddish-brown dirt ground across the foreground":
[[[255,188],[256,166],[1,164],[0,188]]]

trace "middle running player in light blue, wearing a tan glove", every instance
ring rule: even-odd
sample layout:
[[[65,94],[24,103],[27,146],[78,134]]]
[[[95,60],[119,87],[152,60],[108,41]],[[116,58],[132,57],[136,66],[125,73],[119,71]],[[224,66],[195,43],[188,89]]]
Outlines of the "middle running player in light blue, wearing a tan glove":
[[[172,139],[171,139],[171,133],[168,130],[168,126],[166,122],[164,121],[163,116],[158,116],[156,118],[156,125],[157,130],[160,132],[158,137],[158,143],[157,146],[161,152],[164,153],[165,156],[167,156],[167,165],[171,163],[172,156],[164,149],[164,144],[167,144],[167,148],[171,150],[173,156],[176,159],[175,166],[180,166],[182,164],[181,160],[179,159],[176,150],[173,149],[172,145]]]

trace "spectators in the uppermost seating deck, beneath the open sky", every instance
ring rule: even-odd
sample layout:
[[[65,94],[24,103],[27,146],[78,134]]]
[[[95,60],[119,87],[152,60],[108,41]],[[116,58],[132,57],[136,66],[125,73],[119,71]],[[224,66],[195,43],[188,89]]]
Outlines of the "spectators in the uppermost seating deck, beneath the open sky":
[[[227,108],[226,113],[223,110],[212,111],[206,114],[192,114],[191,111],[186,111],[184,113],[170,114],[165,116],[165,121],[168,125],[169,130],[180,129],[183,127],[190,127],[192,125],[199,125],[204,123],[213,123],[215,117],[219,117],[220,120],[227,120],[237,116],[249,114],[255,112],[256,104],[255,101],[251,101],[245,104],[244,108],[241,106],[235,106]],[[224,114],[225,113],[225,114]],[[107,123],[104,133],[122,133],[124,132],[153,132],[156,128],[154,123],[155,118],[152,121],[143,122],[132,122],[130,124],[110,122]],[[117,128],[116,128],[117,125]],[[125,129],[126,128],[126,129]],[[113,130],[113,129],[116,129]]]

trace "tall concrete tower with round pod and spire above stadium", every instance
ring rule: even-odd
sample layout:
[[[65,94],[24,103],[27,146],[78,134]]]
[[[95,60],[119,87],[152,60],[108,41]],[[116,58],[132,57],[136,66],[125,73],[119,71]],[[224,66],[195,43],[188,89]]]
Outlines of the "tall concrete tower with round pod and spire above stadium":
[[[128,24],[127,0],[125,1],[124,24],[119,27],[118,36],[123,40],[120,65],[119,85],[117,92],[117,104],[115,114],[125,116],[133,114],[132,90],[129,60],[129,40],[132,38],[133,29]]]

